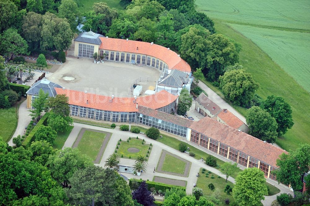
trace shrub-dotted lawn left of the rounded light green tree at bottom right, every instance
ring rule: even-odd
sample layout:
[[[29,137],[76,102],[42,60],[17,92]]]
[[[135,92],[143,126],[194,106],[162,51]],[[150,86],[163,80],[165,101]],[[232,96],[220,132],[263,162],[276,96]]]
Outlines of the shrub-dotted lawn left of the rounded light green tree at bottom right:
[[[197,187],[199,187],[199,188],[201,188],[203,190],[203,194],[207,195],[207,196],[210,196],[213,193],[208,188],[208,185],[210,183],[212,183],[215,186],[215,190],[218,190],[219,191],[219,195],[221,196],[220,197],[220,200],[222,201],[222,204],[220,204],[221,206],[226,205],[225,202],[224,202],[226,198],[230,199],[230,201],[233,202],[234,200],[233,200],[232,196],[227,196],[226,193],[224,193],[225,186],[227,184],[229,184],[230,186],[233,187],[233,183],[229,182],[229,181],[226,182],[224,178],[218,178],[218,175],[213,174],[213,173],[210,173],[209,177],[206,178],[206,173],[208,173],[208,170],[206,170],[205,173],[202,173],[202,168],[200,168],[199,177],[197,179],[197,185],[196,185]],[[211,175],[212,174],[215,177],[214,179],[211,179]]]

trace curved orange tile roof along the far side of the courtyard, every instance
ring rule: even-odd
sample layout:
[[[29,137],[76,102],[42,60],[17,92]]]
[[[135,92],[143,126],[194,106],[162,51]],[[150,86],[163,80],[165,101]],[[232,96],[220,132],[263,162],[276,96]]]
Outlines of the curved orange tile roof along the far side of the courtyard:
[[[168,64],[169,69],[178,69],[182,72],[191,72],[191,67],[186,63],[181,57],[178,56],[172,50],[168,50],[166,47],[153,44],[148,42],[139,42],[126,39],[114,39],[99,37],[101,44],[99,49],[113,50],[113,51],[123,51],[137,54],[144,54],[156,57]],[[138,50],[137,50],[138,48]]]

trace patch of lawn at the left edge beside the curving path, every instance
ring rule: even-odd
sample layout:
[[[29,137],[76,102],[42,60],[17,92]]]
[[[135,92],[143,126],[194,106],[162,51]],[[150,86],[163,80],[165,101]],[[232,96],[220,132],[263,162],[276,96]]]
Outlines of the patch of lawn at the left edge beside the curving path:
[[[8,142],[17,127],[17,107],[0,109],[0,136]],[[26,117],[27,118],[27,117]]]

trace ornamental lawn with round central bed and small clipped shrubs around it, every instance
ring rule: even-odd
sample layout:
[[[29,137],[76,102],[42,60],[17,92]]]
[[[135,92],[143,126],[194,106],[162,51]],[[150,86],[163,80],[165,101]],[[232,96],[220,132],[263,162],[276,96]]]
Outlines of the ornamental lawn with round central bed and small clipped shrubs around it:
[[[115,152],[122,158],[136,159],[138,156],[144,156],[148,159],[152,147],[152,144],[146,144],[144,139],[129,137],[126,141],[119,140]]]

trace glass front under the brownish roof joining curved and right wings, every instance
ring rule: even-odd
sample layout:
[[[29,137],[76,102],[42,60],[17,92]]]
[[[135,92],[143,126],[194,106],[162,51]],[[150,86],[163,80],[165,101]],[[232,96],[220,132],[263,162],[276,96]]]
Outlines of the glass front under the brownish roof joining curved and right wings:
[[[171,123],[171,122],[166,122],[160,119],[157,119],[155,117],[147,116],[144,114],[137,113],[137,123],[147,125],[150,127],[155,127],[161,130],[164,130],[166,132],[176,134],[182,137],[186,137],[187,134],[187,128]]]

